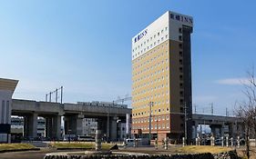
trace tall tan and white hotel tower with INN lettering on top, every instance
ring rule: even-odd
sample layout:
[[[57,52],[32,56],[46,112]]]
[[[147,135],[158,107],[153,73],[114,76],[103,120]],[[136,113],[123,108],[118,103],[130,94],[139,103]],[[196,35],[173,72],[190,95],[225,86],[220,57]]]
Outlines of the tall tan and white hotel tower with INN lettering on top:
[[[132,134],[191,138],[192,26],[168,11],[132,38]]]

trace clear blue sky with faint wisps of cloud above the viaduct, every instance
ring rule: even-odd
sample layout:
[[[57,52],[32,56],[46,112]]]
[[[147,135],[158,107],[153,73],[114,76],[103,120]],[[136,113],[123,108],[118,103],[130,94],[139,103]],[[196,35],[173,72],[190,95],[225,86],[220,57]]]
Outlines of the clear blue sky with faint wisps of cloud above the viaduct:
[[[13,98],[113,101],[131,94],[131,38],[168,10],[194,18],[193,107],[232,114],[256,65],[256,1],[0,1],[0,77]],[[194,108],[193,108],[194,109]]]

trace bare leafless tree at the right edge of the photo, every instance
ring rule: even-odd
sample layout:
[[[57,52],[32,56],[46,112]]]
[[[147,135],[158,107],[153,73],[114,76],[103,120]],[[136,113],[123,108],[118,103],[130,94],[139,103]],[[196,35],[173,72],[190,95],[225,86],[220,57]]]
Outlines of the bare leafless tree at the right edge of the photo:
[[[245,94],[245,100],[236,108],[236,115],[241,118],[245,126],[245,143],[246,155],[250,158],[250,141],[249,138],[256,140],[256,80],[254,76],[254,68],[247,72],[247,79],[242,81]]]

